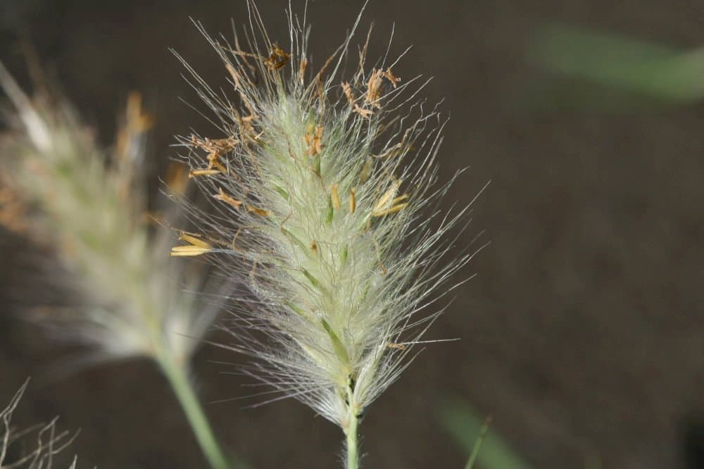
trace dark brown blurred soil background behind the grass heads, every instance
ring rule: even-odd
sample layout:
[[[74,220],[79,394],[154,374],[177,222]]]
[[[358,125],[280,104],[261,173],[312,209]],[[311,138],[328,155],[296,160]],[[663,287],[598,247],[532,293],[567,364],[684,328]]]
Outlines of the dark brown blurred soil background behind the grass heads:
[[[285,4],[259,3],[268,29],[285,42]],[[315,64],[341,42],[359,8],[358,1],[310,2]],[[113,138],[127,93],[142,92],[157,118],[153,148],[165,160],[175,154],[173,134],[207,128],[178,99],[197,102],[168,47],[206,80],[222,80],[224,68],[189,15],[230,35],[231,18],[245,23],[246,7],[1,0],[0,15],[0,59],[24,79],[18,45],[30,39],[103,142]],[[595,455],[603,468],[696,467],[685,448],[696,445],[704,422],[704,108],[560,106],[551,87],[532,86],[541,70],[523,57],[541,20],[683,48],[704,44],[704,4],[392,0],[368,6],[363,30],[372,20],[377,52],[394,22],[392,51],[414,44],[394,71],[433,75],[426,96],[446,98],[451,120],[441,175],[471,167],[446,204],[468,201],[492,182],[462,239],[486,230],[491,244],[464,271],[477,277],[429,334],[462,340],[429,346],[372,406],[362,426],[365,467],[462,467],[465,454],[436,420],[447,394],[494,415],[493,430],[536,468],[584,468]],[[573,91],[582,92],[578,84]],[[156,187],[156,170],[153,181]],[[39,379],[68,351],[11,318],[7,298],[27,282],[16,266],[32,249],[0,237],[0,402],[27,376],[37,378],[15,423],[61,415],[61,427],[81,428],[69,452],[82,468],[203,467],[151,364]],[[40,284],[24,285],[42,296]],[[247,394],[239,377],[220,373],[228,367],[212,363],[235,359],[213,347],[196,356],[203,399]],[[207,411],[222,441],[253,466],[339,465],[341,432],[305,406],[241,406],[210,404]]]

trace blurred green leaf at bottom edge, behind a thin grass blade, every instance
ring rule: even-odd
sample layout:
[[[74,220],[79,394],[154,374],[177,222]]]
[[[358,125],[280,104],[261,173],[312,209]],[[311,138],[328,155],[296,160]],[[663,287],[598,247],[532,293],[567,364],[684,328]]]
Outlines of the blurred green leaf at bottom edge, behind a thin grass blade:
[[[455,442],[470,455],[466,468],[471,468],[474,462],[482,469],[530,468],[496,432],[488,432],[486,419],[463,399],[445,399],[439,418]]]

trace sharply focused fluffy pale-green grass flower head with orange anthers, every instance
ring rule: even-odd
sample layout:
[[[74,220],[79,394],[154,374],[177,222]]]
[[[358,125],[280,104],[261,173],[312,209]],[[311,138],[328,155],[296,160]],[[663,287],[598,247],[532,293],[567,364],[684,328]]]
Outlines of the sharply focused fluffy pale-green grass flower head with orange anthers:
[[[230,92],[180,58],[218,131],[180,137],[212,209],[181,199],[198,229],[172,255],[206,255],[249,284],[227,347],[253,358],[244,373],[281,393],[270,400],[295,397],[356,432],[441,312],[427,307],[459,283],[438,287],[478,250],[453,244],[471,203],[439,208],[450,185],[436,183],[444,120],[417,98],[420,77],[394,73],[408,49],[369,63],[371,28],[351,46],[360,13],[315,68],[305,18],[289,13],[288,37],[275,42],[249,8],[246,50],[196,23]],[[341,77],[352,56],[356,71]]]

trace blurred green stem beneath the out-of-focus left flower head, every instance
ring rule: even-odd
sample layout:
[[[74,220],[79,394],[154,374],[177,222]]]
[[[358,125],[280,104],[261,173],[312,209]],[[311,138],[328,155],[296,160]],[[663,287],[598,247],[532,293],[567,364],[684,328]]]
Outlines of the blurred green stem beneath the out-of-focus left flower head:
[[[210,428],[208,418],[203,412],[203,408],[196,397],[191,382],[187,375],[187,365],[177,363],[175,357],[168,352],[162,353],[157,358],[159,366],[168,379],[171,387],[183,408],[186,418],[191,424],[191,429],[198,440],[198,444],[206,456],[210,468],[229,469],[225,454],[222,453],[218,440],[215,439],[213,429]]]

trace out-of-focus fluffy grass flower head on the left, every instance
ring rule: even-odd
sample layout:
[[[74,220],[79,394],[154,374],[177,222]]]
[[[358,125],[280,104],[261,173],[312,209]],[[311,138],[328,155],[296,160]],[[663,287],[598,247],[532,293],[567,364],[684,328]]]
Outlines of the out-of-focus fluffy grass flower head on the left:
[[[24,317],[89,346],[71,368],[164,351],[187,363],[216,310],[182,292],[187,276],[164,252],[172,235],[149,226],[151,118],[141,96],[130,96],[117,142],[103,149],[66,101],[46,88],[30,99],[1,63],[0,89],[14,105],[0,135],[0,224],[53,252],[68,275],[52,281],[76,294],[70,308],[31,305]],[[191,278],[201,286],[202,277]]]

